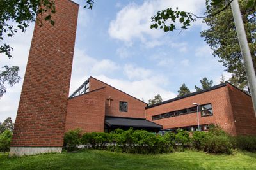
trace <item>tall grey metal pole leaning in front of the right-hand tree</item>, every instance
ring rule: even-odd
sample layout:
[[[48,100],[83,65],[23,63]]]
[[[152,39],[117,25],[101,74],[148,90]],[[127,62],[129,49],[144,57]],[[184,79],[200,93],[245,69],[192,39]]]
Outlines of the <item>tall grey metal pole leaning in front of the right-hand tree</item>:
[[[244,60],[244,67],[246,71],[246,76],[248,79],[248,85],[250,87],[250,92],[252,96],[252,103],[254,108],[254,113],[256,117],[256,75],[253,68],[252,56],[250,53],[250,48],[246,38],[246,33],[244,30],[244,24],[241,17],[241,11],[237,0],[233,0],[231,3],[231,9],[236,25],[236,32],[239,39],[239,45],[241,48],[241,53]]]

